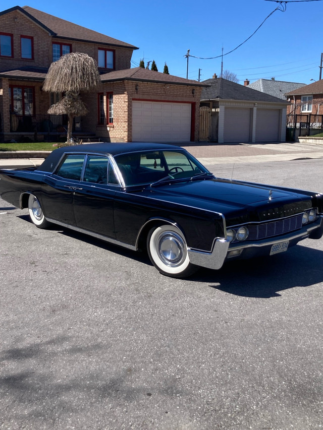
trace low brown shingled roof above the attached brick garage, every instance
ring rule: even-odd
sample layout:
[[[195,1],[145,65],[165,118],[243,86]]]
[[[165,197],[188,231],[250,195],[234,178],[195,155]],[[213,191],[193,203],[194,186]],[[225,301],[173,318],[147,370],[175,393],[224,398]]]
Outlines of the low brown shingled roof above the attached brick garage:
[[[157,82],[160,84],[177,84],[177,85],[194,85],[196,87],[205,87],[201,82],[193,81],[186,78],[180,78],[166,73],[155,72],[153,70],[135,67],[133,69],[116,70],[101,75],[101,82],[111,81],[142,81]]]

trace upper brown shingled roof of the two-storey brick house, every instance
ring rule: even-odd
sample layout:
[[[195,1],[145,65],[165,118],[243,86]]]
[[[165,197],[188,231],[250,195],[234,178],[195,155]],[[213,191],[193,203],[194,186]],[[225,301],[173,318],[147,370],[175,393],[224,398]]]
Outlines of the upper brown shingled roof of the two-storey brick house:
[[[105,34],[81,27],[80,25],[46,14],[45,12],[38,11],[37,9],[30,8],[29,6],[24,6],[22,8],[20,6],[15,6],[11,9],[7,9],[6,11],[0,12],[0,16],[13,11],[18,11],[24,14],[35,24],[47,31],[52,37],[138,49],[136,46],[130,45],[129,43],[122,42],[121,40],[114,39],[113,37],[106,36]]]

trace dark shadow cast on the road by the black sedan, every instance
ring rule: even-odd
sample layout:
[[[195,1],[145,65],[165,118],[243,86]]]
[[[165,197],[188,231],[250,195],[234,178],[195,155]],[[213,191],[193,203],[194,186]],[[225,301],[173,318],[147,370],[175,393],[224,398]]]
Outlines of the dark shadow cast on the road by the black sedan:
[[[19,218],[31,222],[29,215]],[[55,224],[49,229],[152,266],[145,252],[131,251]],[[323,282],[322,261],[323,251],[298,244],[276,256],[230,261],[220,270],[201,268],[184,282],[202,282],[211,288],[245,297],[280,297],[279,291]]]

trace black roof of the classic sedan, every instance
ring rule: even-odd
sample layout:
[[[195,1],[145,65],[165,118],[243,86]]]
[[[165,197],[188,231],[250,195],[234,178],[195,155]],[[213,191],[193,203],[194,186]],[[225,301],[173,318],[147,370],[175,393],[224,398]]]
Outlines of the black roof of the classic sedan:
[[[78,152],[81,154],[101,154],[101,155],[119,155],[126,154],[128,152],[137,151],[160,151],[160,150],[170,150],[170,149],[180,149],[177,145],[170,145],[164,143],[149,143],[149,142],[128,142],[128,143],[89,143],[83,145],[73,145],[73,146],[63,146],[62,148],[55,149],[52,151],[44,162],[36,168],[36,170],[41,170],[45,172],[52,172],[57,166],[58,162],[65,153]]]

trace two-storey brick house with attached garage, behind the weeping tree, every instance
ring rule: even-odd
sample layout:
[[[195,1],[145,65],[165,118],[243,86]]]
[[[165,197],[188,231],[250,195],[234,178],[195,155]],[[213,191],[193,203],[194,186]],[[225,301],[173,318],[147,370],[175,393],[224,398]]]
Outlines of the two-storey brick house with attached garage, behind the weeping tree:
[[[66,135],[66,117],[48,115],[61,94],[42,91],[50,64],[69,52],[92,56],[97,93],[81,94],[89,109],[74,135],[112,142],[197,141],[203,84],[131,69],[136,46],[44,12],[16,6],[0,12],[0,140]]]

